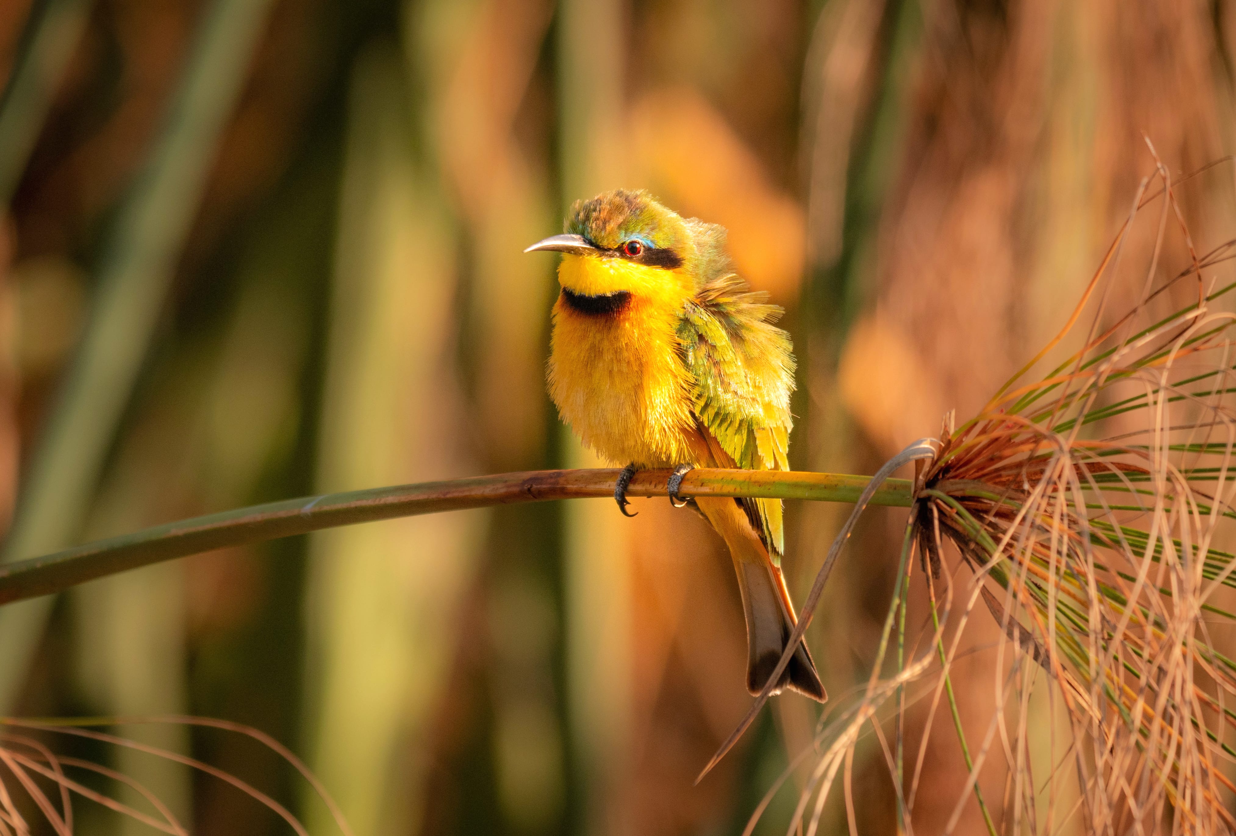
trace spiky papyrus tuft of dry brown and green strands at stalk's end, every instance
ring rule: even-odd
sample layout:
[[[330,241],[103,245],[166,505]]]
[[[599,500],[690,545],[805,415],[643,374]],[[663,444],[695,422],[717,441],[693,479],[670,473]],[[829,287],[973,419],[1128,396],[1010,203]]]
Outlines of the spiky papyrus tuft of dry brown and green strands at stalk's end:
[[[1219,278],[1236,241],[1199,252],[1183,216],[1159,163],[1060,334],[978,416],[946,420],[917,474],[870,680],[826,717],[810,756],[795,814],[808,835],[843,815],[855,831],[860,746],[886,763],[912,832],[946,710],[969,775],[944,832],[968,804],[993,834],[1236,830],[1236,653],[1224,649],[1236,625],[1224,550],[1236,544],[1236,315],[1224,309],[1236,282]],[[1121,258],[1135,230],[1152,241],[1136,267]],[[1163,252],[1187,263],[1168,268]],[[1114,313],[1120,299],[1135,303]],[[921,634],[907,633],[911,584],[931,602]],[[986,613],[1000,638],[974,648],[968,627]],[[995,657],[983,685],[994,710],[967,740],[967,702],[993,702],[955,694],[949,672],[974,652]],[[907,712],[925,710],[911,746]],[[983,798],[985,764],[1006,775],[1002,798]],[[838,778],[844,810],[828,806]]]

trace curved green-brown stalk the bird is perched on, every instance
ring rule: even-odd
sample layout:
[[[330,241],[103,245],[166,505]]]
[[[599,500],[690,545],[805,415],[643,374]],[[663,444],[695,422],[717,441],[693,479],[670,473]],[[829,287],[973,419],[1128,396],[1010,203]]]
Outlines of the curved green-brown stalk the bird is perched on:
[[[0,565],[0,605],[59,592],[129,569],[323,528],[494,505],[612,497],[618,470],[536,470],[283,500],[154,526]],[[628,496],[665,496],[669,470],[635,474]],[[754,496],[910,507],[912,484],[801,471],[692,470],[684,496]]]

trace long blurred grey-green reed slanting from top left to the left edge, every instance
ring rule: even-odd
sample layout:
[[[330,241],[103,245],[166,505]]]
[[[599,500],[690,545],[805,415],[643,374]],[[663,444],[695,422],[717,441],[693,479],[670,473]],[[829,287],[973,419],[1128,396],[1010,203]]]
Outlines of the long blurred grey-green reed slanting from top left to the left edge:
[[[267,4],[218,0],[206,12],[180,90],[147,166],[119,209],[98,267],[87,331],[30,465],[4,560],[67,545],[88,511],[129,403],[164,294],[246,78]],[[57,26],[51,15],[43,26]],[[37,38],[36,38],[37,41]],[[51,610],[49,599],[0,611],[0,704],[12,706]]]

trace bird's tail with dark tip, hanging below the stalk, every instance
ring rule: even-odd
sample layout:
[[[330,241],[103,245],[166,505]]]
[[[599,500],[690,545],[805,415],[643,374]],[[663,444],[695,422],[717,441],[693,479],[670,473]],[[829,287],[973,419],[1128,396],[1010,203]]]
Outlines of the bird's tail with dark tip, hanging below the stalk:
[[[726,539],[743,594],[747,616],[747,690],[759,694],[781,660],[797,620],[781,570],[772,565],[768,549],[733,500],[696,497],[700,510]],[[828,699],[806,642],[798,642],[790,664],[781,673],[774,694],[782,688],[821,702]]]

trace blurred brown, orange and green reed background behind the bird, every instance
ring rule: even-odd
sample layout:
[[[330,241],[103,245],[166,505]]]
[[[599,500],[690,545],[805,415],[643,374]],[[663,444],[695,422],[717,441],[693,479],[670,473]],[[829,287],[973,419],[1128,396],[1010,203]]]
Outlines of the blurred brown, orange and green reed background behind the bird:
[[[1146,139],[1174,176],[1232,152],[1234,54],[1230,0],[6,0],[2,557],[595,464],[544,391],[556,258],[520,250],[616,187],[729,229],[738,271],[787,309],[791,464],[871,472],[1063,324],[1153,171]],[[1199,250],[1230,236],[1231,184],[1219,166],[1183,195]],[[357,834],[738,834],[819,710],[775,700],[693,785],[749,705],[738,590],[695,514],[635,508],[336,529],[10,606],[0,714],[256,726]],[[789,507],[797,600],[844,512]],[[812,627],[834,695],[869,674],[900,523],[869,516]],[[993,689],[967,681],[990,655],[955,672],[979,737]],[[920,834],[963,787],[948,722]],[[335,832],[252,741],[121,733]],[[219,780],[57,746],[194,832],[288,832]],[[884,753],[860,756],[859,824],[892,832]],[[756,832],[785,831],[800,779]],[[983,787],[1001,798],[995,764]],[[845,832],[844,810],[824,821]]]

